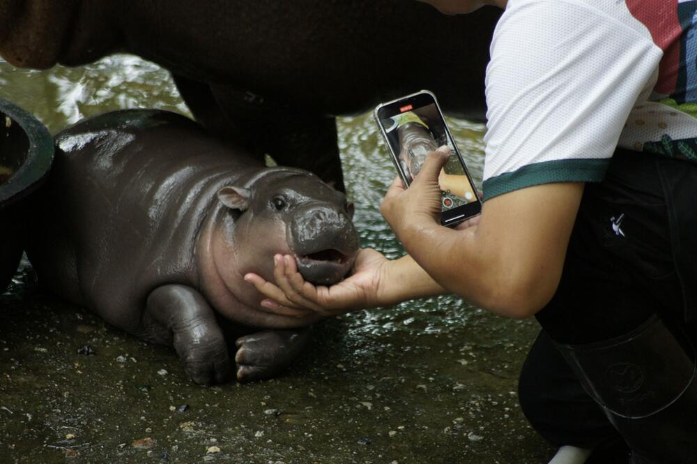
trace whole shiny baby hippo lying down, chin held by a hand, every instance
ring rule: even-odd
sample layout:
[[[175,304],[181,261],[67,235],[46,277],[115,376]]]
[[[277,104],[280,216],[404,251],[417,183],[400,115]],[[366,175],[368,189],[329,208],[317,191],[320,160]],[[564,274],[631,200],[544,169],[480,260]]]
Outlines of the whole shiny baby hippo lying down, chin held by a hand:
[[[273,375],[298,354],[318,317],[264,312],[243,276],[271,278],[273,255],[294,253],[309,280],[343,278],[358,236],[342,193],[309,172],[265,167],[174,113],[105,114],[56,145],[27,248],[40,283],[174,344],[199,383],[231,369],[223,322],[252,333],[237,340],[240,379]]]

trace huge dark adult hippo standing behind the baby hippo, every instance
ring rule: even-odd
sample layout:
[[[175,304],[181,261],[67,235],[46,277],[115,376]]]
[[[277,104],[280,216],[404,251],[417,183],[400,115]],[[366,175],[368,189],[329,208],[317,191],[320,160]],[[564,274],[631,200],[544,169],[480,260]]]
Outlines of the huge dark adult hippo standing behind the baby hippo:
[[[204,125],[341,187],[335,115],[429,89],[483,116],[499,15],[408,0],[0,0],[0,55],[49,68],[138,54],[171,70]]]

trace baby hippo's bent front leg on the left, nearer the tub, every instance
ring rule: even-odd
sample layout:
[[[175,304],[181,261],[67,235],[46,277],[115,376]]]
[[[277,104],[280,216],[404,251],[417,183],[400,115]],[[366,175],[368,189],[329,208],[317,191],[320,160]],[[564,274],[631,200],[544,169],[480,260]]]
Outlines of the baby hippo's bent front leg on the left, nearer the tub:
[[[171,340],[191,380],[202,385],[228,380],[225,338],[213,309],[197,290],[186,285],[156,288],[148,297],[144,324],[146,338]]]

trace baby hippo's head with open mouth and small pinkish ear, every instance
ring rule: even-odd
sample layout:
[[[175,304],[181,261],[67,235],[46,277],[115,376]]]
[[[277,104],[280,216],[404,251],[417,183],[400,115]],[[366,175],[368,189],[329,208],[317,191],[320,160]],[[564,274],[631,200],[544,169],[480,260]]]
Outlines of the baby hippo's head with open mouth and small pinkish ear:
[[[241,186],[221,188],[217,197],[236,216],[231,232],[239,272],[273,280],[273,255],[287,253],[305,280],[331,285],[353,266],[359,246],[353,204],[314,174],[268,168]]]

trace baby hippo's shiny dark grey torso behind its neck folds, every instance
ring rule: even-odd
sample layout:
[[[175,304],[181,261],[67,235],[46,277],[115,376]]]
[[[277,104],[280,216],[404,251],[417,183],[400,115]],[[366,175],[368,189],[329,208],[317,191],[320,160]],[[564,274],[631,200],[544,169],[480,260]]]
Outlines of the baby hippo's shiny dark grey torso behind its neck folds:
[[[43,285],[98,313],[142,306],[154,286],[194,278],[210,191],[259,165],[190,119],[155,110],[82,121],[56,146],[28,254]]]

